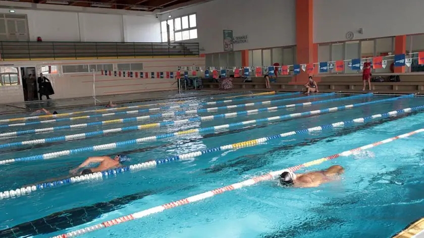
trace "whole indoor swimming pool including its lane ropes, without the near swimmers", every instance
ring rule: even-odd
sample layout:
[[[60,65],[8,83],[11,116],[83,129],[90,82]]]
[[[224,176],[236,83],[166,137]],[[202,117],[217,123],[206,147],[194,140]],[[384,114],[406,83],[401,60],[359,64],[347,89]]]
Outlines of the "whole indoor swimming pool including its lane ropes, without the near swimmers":
[[[244,92],[120,106],[0,116],[0,237],[391,237],[422,217],[424,97]],[[122,168],[69,174],[117,154],[130,157]],[[335,164],[342,179],[316,188],[275,176]]]

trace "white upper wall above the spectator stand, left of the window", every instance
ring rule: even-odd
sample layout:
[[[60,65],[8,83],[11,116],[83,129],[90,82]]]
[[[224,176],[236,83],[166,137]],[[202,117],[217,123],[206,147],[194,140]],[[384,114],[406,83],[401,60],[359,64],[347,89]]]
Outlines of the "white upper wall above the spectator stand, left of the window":
[[[154,16],[22,9],[15,14],[27,15],[31,41],[41,36],[43,41],[161,42],[160,21]]]

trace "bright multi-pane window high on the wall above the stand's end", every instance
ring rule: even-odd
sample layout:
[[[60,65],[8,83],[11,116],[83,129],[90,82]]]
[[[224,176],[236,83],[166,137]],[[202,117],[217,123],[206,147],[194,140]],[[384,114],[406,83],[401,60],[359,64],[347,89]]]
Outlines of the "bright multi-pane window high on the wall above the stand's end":
[[[169,30],[168,30],[169,28]],[[197,39],[196,14],[161,22],[162,42]]]

